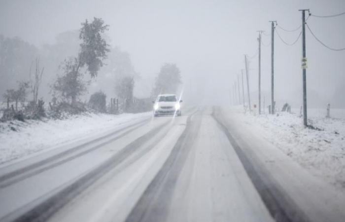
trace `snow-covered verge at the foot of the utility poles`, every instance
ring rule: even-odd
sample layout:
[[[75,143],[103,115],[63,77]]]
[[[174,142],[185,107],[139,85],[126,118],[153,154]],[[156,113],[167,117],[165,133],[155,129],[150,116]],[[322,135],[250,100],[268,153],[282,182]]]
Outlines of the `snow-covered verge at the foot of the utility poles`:
[[[345,188],[345,119],[311,116],[309,122],[320,129],[314,130],[303,126],[299,114],[253,115],[244,114],[242,108],[234,112],[248,130],[274,144],[311,174]]]

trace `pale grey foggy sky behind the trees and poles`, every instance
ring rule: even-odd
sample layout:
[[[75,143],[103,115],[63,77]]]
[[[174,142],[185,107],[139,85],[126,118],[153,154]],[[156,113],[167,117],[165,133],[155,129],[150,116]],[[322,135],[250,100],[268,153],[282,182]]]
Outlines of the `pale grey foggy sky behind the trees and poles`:
[[[106,34],[109,44],[128,53],[138,74],[135,96],[149,97],[160,67],[165,63],[175,63],[182,75],[184,100],[208,105],[233,104],[232,87],[237,75],[244,69],[244,54],[247,54],[249,58],[253,57],[249,60],[249,84],[252,103],[255,104],[258,97],[257,31],[266,31],[268,36],[263,35],[262,41],[268,45],[271,41],[269,20],[276,20],[278,26],[284,29],[295,29],[302,23],[298,9],[307,8],[311,14],[332,15],[345,11],[345,1],[1,0],[0,35],[20,37],[39,48],[42,54],[47,45],[58,44],[57,37],[61,33],[78,31],[85,19],[102,18],[109,25]],[[307,23],[325,44],[344,48],[344,22],[345,15],[311,17]],[[289,43],[300,32],[277,31]],[[71,47],[63,52],[66,55],[77,50],[73,49],[73,45],[78,46],[78,39],[69,39]],[[345,51],[327,49],[308,30],[306,42],[309,107],[323,108],[331,103],[332,107],[345,108]],[[275,93],[278,105],[283,102],[295,108],[302,105],[301,54],[301,38],[293,46],[287,46],[275,35]],[[271,95],[270,46],[262,46],[261,57],[262,94],[267,106]],[[48,85],[63,59],[46,58],[42,61],[41,66],[47,69],[39,97],[50,98]],[[111,97],[110,83],[108,78],[99,76],[92,81],[89,94],[107,87],[104,91]],[[4,90],[2,88],[0,93]]]

